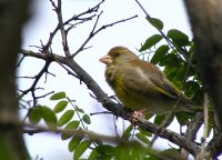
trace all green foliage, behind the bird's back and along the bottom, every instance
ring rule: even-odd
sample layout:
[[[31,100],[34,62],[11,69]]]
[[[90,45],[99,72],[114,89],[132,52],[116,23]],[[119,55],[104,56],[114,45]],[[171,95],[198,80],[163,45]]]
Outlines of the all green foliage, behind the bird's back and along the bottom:
[[[163,29],[161,20],[152,18],[148,19],[148,21],[153,27]],[[184,93],[194,102],[202,101],[202,97],[200,97],[200,93],[203,93],[201,78],[196,74],[196,68],[191,67],[193,60],[189,61],[193,58],[194,42],[190,41],[185,33],[171,29],[168,31],[167,37],[153,34],[145,40],[140,51],[142,51],[143,56],[153,53],[150,62],[163,67],[165,76],[176,87],[184,90]],[[71,100],[64,91],[52,94],[50,100],[56,102],[53,110],[48,107],[36,106],[30,110],[29,120],[31,123],[37,124],[43,119],[49,127],[53,123],[57,129],[63,129],[61,139],[69,140],[68,150],[73,152],[73,159],[79,159],[87,150],[90,153],[88,157],[90,160],[125,159],[127,157],[133,159],[159,159],[159,154],[168,152],[149,149],[152,133],[141,128],[134,128],[133,124],[130,124],[124,130],[121,137],[124,142],[117,146],[90,140],[83,132],[77,132],[77,130],[88,130],[87,126],[91,123],[89,114],[84,113],[84,110],[79,108],[75,101]],[[44,112],[50,116],[48,119],[43,116]],[[174,117],[182,126],[193,118],[189,113],[176,113],[168,119],[167,126],[171,124]],[[168,116],[165,114],[158,114],[154,117],[153,123],[162,126],[167,118]]]

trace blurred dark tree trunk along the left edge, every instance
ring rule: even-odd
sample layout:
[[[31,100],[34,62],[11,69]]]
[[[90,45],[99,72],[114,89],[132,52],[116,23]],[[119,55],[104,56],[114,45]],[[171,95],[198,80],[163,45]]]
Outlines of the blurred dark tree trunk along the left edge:
[[[28,152],[18,121],[14,73],[21,44],[21,27],[27,19],[28,0],[0,1],[0,159],[26,160]]]

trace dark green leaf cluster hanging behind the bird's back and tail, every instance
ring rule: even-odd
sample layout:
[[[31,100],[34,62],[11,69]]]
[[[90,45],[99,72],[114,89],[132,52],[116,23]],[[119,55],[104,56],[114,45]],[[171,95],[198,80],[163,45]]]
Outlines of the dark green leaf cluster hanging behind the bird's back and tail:
[[[151,63],[163,69],[167,78],[195,106],[202,106],[204,84],[196,66],[194,41],[178,29],[170,29],[163,33],[164,24],[157,18],[148,18],[148,21],[159,33],[149,37],[141,46],[143,57],[149,53]],[[160,118],[163,117],[155,117],[154,123],[160,124]],[[175,113],[180,124],[186,124],[192,117],[190,113]]]

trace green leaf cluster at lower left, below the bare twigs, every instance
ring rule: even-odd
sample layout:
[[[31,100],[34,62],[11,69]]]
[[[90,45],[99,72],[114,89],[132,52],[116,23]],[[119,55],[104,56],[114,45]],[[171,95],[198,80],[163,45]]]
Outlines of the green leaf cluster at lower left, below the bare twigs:
[[[46,106],[36,106],[30,110],[29,120],[32,124],[43,120],[49,128],[62,129],[61,139],[69,140],[69,151],[73,152],[73,159],[79,159],[89,149],[92,141],[78,130],[88,130],[87,124],[91,123],[91,119],[63,91],[52,94],[50,100],[57,102],[53,110]]]

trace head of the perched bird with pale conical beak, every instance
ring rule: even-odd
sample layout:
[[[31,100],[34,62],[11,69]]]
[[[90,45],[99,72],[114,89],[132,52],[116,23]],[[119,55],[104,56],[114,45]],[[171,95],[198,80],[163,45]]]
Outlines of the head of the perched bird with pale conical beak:
[[[108,52],[107,56],[100,58],[100,61],[105,63],[107,66],[110,66],[110,64],[119,64],[135,59],[138,59],[138,56],[135,56],[128,48],[114,47]]]

